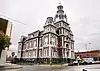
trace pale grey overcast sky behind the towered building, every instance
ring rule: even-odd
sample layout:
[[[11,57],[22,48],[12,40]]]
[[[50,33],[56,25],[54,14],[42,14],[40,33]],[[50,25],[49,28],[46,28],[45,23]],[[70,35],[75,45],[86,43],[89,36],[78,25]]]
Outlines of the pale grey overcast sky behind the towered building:
[[[42,30],[47,17],[54,17],[59,2],[64,6],[68,23],[74,33],[75,51],[100,49],[100,0],[0,0],[0,14],[13,18],[12,45],[17,51],[20,36]],[[0,17],[3,17],[0,15]]]

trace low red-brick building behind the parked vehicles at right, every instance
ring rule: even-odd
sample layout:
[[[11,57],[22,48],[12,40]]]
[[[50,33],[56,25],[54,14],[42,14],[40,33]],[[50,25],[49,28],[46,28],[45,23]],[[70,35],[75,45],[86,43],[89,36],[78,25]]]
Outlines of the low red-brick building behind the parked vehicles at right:
[[[82,58],[93,58],[94,61],[100,61],[100,50],[92,50],[87,52],[76,52],[75,57],[79,56]]]

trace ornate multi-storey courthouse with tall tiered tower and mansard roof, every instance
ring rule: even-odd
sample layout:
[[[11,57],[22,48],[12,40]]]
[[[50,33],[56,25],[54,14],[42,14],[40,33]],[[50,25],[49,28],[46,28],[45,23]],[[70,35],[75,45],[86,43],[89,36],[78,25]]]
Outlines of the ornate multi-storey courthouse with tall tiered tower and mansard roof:
[[[44,30],[34,31],[28,36],[21,36],[18,42],[18,57],[22,60],[37,59],[42,63],[72,62],[74,56],[74,40],[71,27],[67,22],[63,6],[57,6],[55,17],[48,17]]]

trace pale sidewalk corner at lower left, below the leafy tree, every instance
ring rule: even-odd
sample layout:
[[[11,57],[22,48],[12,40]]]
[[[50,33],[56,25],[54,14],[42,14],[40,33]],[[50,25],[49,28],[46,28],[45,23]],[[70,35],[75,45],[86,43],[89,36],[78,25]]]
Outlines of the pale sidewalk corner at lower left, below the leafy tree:
[[[6,70],[6,69],[20,69],[23,68],[20,65],[16,65],[16,64],[10,64],[10,63],[6,63],[5,65],[0,65],[0,70]]]

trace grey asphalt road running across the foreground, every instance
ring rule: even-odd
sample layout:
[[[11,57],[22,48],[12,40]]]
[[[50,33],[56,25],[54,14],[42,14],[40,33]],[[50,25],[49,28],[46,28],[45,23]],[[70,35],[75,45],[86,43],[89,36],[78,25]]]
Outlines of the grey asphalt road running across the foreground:
[[[87,71],[100,71],[100,64],[95,65],[82,65],[82,66],[66,66],[66,67],[44,67],[44,66],[24,66],[22,69],[11,69],[2,71],[82,71],[87,69]]]

